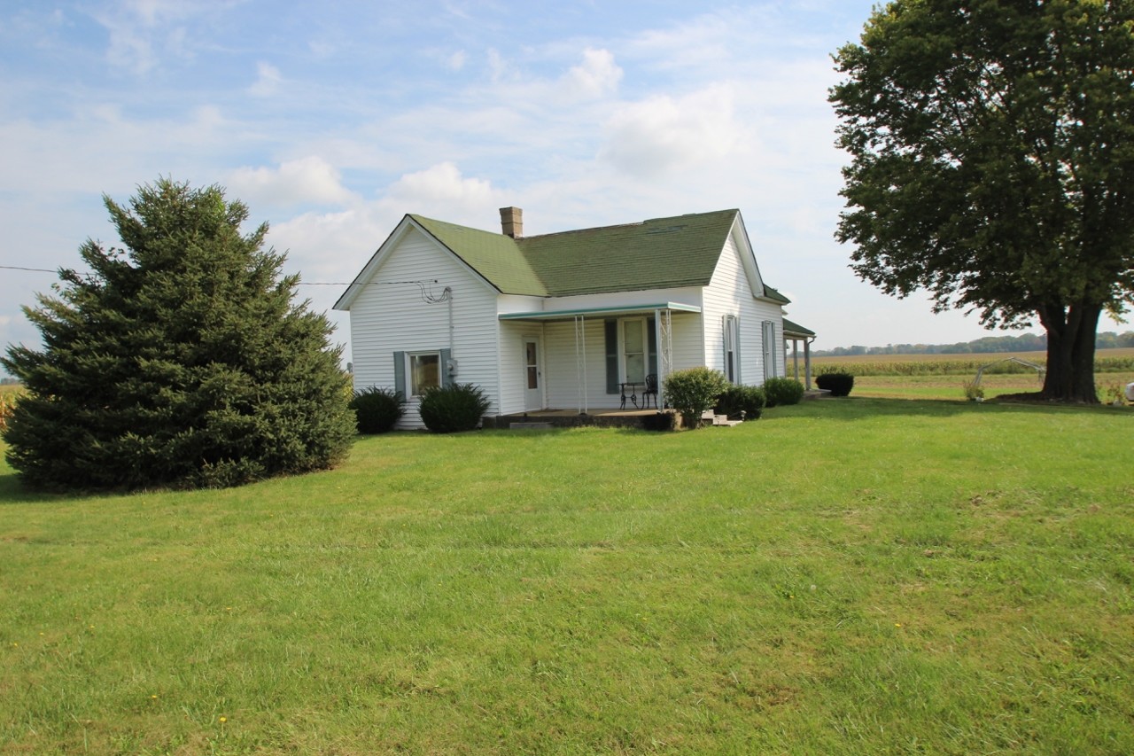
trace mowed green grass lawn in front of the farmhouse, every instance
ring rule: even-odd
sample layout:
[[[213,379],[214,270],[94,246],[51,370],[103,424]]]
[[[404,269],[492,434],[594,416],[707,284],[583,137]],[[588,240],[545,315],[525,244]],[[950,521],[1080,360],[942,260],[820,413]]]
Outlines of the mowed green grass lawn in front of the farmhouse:
[[[1134,413],[852,396],[0,469],[0,753],[1134,753]]]

